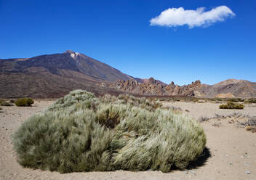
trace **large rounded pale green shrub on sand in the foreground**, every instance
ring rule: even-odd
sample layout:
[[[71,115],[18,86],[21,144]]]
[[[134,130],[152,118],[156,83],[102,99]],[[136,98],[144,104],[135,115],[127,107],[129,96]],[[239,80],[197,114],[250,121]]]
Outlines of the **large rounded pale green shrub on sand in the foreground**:
[[[26,120],[12,141],[29,168],[168,172],[196,160],[206,136],[196,120],[159,102],[76,90]]]

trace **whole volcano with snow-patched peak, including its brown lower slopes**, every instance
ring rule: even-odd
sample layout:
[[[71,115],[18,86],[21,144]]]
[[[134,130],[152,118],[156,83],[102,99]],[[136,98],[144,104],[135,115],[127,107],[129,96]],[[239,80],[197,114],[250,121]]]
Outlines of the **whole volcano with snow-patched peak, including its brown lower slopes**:
[[[103,62],[72,51],[0,60],[0,97],[61,97],[73,89],[119,94],[118,90],[99,84],[129,78],[132,77]]]

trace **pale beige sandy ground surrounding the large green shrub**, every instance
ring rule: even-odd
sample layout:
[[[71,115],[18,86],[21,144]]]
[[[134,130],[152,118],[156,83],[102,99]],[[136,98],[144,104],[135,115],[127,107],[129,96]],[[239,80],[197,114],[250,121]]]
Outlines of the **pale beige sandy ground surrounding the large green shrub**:
[[[52,101],[35,102],[33,107],[2,107],[0,113],[0,179],[256,179],[256,134],[239,128],[227,120],[209,120],[201,123],[207,135],[206,155],[196,168],[186,171],[114,171],[90,173],[65,173],[32,170],[20,166],[12,150],[10,136],[29,116],[44,110]],[[215,113],[229,115],[240,112],[256,115],[256,107],[244,110],[219,110],[218,104],[175,102],[164,103],[180,107],[193,118],[212,117]],[[220,127],[212,126],[219,123]],[[247,172],[249,171],[249,172]],[[247,173],[246,173],[247,172]]]

